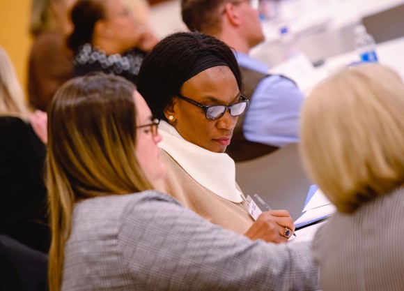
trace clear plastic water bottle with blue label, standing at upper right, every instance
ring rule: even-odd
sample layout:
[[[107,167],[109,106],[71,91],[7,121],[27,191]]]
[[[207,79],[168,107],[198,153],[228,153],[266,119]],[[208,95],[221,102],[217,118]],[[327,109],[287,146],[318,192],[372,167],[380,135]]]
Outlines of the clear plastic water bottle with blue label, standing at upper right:
[[[362,62],[373,63],[378,61],[375,40],[366,32],[363,25],[355,27],[355,47]]]

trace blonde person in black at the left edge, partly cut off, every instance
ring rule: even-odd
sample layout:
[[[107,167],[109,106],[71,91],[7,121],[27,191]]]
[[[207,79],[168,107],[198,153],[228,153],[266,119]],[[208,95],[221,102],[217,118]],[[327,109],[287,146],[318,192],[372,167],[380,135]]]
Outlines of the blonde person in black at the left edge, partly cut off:
[[[47,253],[44,112],[30,114],[13,64],[0,47],[0,233]]]

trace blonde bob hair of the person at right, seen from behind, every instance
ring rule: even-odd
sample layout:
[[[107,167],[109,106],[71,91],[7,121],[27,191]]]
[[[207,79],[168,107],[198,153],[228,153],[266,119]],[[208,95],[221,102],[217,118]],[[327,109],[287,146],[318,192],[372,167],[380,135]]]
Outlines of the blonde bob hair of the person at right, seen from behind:
[[[306,98],[304,165],[339,211],[403,185],[403,114],[403,81],[380,64],[346,68]]]

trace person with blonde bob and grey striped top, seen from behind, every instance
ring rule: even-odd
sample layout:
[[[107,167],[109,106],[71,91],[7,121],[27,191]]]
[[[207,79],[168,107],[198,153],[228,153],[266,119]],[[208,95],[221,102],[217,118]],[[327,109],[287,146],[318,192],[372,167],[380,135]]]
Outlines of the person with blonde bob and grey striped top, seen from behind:
[[[337,208],[313,254],[322,290],[403,290],[404,84],[379,65],[345,68],[302,111],[302,154]]]

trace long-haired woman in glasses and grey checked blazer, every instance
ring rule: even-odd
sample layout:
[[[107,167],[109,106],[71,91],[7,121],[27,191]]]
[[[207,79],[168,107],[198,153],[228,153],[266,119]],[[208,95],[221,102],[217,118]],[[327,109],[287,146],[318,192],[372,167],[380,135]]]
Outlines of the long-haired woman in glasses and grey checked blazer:
[[[70,80],[48,114],[51,291],[317,289],[310,244],[251,241],[152,190],[162,137],[132,83]]]

